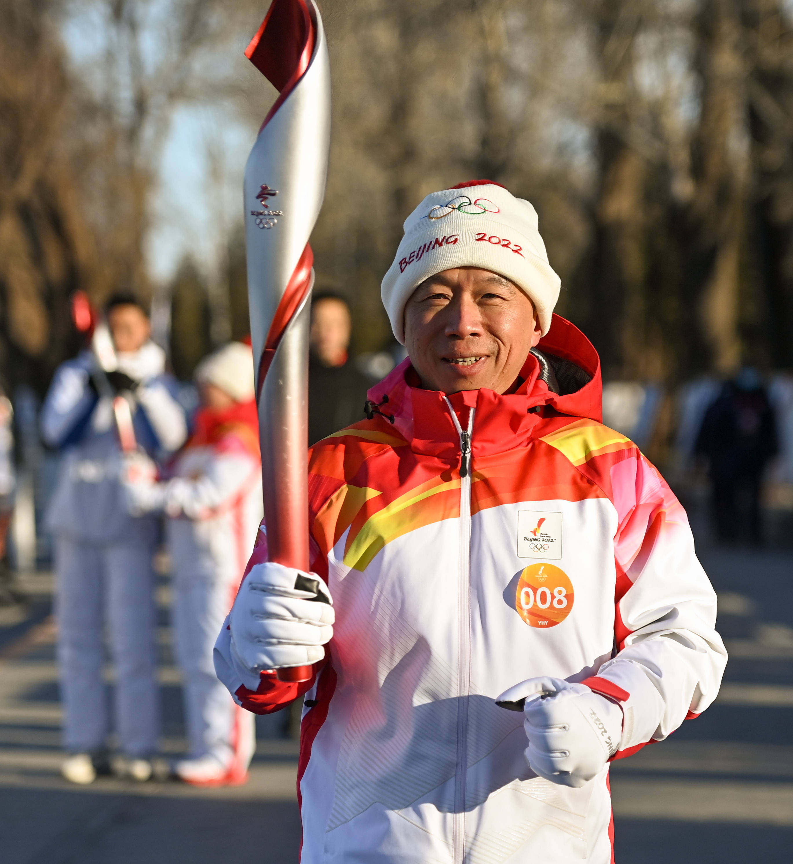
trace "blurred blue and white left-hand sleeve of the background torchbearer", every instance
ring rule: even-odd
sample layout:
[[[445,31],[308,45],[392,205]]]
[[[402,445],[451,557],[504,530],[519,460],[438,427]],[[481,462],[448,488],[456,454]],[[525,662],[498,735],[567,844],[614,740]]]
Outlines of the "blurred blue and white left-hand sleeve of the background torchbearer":
[[[98,397],[91,387],[89,359],[80,356],[58,367],[41,406],[41,437],[60,448],[79,435]]]

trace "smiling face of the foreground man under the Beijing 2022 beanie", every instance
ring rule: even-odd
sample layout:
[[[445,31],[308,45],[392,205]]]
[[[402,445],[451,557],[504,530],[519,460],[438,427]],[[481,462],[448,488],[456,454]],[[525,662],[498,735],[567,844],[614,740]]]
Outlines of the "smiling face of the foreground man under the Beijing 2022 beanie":
[[[443,270],[405,306],[405,346],[428,390],[504,393],[541,335],[534,304],[490,270]]]

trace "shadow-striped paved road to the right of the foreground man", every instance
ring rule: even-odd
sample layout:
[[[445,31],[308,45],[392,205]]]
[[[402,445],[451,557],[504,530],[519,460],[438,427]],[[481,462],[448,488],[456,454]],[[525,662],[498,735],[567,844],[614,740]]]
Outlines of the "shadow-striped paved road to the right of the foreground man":
[[[612,767],[619,864],[793,857],[793,555],[711,550],[730,661],[714,705]]]

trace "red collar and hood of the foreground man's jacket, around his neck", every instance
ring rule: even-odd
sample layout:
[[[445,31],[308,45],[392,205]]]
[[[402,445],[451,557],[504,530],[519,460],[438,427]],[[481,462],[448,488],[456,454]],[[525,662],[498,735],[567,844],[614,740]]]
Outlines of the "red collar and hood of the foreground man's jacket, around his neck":
[[[482,388],[447,397],[417,386],[408,358],[371,387],[367,396],[380,405],[382,416],[389,421],[393,417],[393,429],[415,452],[441,458],[459,452],[460,439],[447,398],[458,415],[466,408],[476,410],[474,456],[524,446],[548,409],[554,415],[602,421],[600,358],[578,327],[561,315],[554,314],[548,334],[530,352],[520,374],[523,384],[509,395]],[[385,403],[384,397],[388,397]]]

